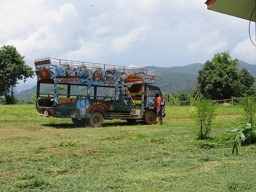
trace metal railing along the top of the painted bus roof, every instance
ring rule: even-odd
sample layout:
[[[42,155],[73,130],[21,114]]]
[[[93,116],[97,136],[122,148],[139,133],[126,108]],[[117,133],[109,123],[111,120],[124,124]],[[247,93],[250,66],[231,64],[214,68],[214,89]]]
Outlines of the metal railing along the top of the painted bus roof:
[[[93,70],[108,70],[108,71],[116,70],[120,72],[144,73],[145,75],[156,76],[155,70],[143,69],[139,67],[126,67],[126,66],[120,66],[120,65],[73,61],[73,60],[57,59],[57,58],[51,58],[51,57],[35,60],[35,66],[44,65],[44,64],[56,64],[63,67],[64,66],[65,67],[81,67],[81,68],[89,68]]]

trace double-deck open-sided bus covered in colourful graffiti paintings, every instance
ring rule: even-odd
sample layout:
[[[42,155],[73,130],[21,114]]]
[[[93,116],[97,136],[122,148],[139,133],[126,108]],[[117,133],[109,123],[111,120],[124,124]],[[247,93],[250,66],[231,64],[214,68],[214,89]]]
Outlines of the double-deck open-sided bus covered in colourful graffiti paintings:
[[[100,127],[104,119],[153,124],[157,119],[155,93],[164,100],[160,88],[153,85],[154,70],[44,58],[35,60],[35,72],[39,115],[71,118],[79,126]],[[62,92],[61,86],[66,87]],[[164,111],[163,107],[163,116]]]

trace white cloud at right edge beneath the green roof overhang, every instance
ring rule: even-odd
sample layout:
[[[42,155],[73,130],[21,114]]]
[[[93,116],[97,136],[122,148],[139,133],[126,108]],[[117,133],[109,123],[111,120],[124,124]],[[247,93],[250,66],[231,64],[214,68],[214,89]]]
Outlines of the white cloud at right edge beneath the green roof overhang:
[[[251,43],[250,38],[239,42],[232,50],[232,55],[240,60],[256,64],[256,47]]]

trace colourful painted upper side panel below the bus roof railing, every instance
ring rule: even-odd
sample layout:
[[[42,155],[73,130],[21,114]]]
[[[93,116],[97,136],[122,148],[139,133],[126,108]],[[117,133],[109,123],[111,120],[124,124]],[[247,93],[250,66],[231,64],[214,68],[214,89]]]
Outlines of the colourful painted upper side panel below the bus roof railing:
[[[38,81],[41,79],[54,79],[55,83],[74,83],[92,85],[131,85],[132,83],[155,83],[155,76],[144,73],[128,73],[116,70],[93,70],[80,67],[64,67],[58,65],[35,66]]]

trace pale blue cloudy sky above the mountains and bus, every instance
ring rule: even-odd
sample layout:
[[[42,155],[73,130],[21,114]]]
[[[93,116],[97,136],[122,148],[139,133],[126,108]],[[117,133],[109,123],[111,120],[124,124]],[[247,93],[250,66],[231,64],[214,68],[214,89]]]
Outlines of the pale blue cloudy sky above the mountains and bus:
[[[209,11],[204,2],[0,0],[0,46],[15,46],[31,67],[46,57],[173,67],[204,63],[227,50],[233,58],[256,64],[249,21]],[[26,86],[35,82],[29,79]]]

